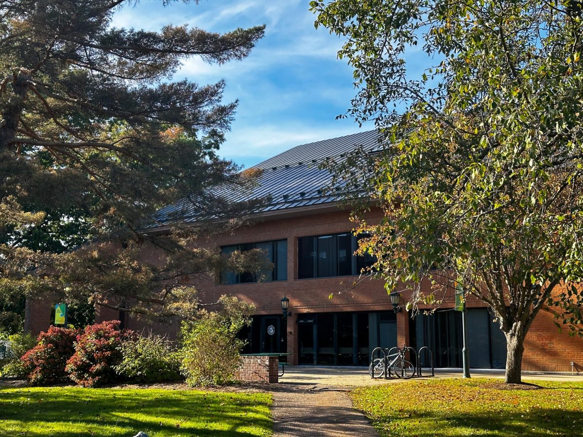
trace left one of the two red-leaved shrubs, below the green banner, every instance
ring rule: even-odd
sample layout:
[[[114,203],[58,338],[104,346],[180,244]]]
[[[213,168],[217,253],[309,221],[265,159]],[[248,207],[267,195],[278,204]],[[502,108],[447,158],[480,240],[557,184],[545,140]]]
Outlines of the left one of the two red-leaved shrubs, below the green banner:
[[[65,382],[65,365],[75,352],[79,330],[51,326],[38,335],[38,344],[22,355],[22,364],[31,385]]]

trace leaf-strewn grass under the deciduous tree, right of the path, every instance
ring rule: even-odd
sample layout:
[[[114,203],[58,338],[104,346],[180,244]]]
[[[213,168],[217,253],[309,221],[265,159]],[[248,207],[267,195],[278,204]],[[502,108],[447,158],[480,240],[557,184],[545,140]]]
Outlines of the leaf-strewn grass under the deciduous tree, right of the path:
[[[583,383],[533,381],[500,389],[492,379],[409,380],[352,392],[382,436],[581,436]]]

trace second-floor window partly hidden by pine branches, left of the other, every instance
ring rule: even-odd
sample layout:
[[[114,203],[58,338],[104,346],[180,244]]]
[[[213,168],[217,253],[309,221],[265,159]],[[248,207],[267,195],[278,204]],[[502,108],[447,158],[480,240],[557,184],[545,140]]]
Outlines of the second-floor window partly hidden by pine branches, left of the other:
[[[273,268],[260,272],[258,275],[252,273],[235,273],[222,272],[222,284],[241,284],[256,282],[259,277],[266,281],[285,281],[287,280],[287,240],[280,239],[276,241],[263,241],[260,243],[235,244],[231,246],[222,246],[221,253],[229,255],[235,251],[250,251],[251,249],[260,249],[266,253],[269,262],[273,263]]]

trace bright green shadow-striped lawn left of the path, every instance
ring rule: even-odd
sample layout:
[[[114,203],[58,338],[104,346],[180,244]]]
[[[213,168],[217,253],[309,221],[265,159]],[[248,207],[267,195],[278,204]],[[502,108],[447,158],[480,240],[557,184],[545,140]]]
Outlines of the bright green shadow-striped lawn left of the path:
[[[271,396],[160,389],[0,389],[2,436],[267,436]]]

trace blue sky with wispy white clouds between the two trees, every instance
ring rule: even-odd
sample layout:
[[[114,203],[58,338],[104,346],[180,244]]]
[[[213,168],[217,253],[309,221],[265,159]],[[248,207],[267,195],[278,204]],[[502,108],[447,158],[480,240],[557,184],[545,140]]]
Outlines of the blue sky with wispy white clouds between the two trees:
[[[314,29],[309,0],[202,0],[166,8],[161,3],[126,6],[115,13],[113,26],[159,30],[169,23],[189,24],[217,32],[267,26],[243,61],[219,66],[191,58],[174,77],[201,84],[225,79],[225,101],[239,99],[222,156],[249,167],[302,143],[363,130],[350,119],[335,119],[354,97],[352,69],[336,59],[341,41],[326,29]]]

